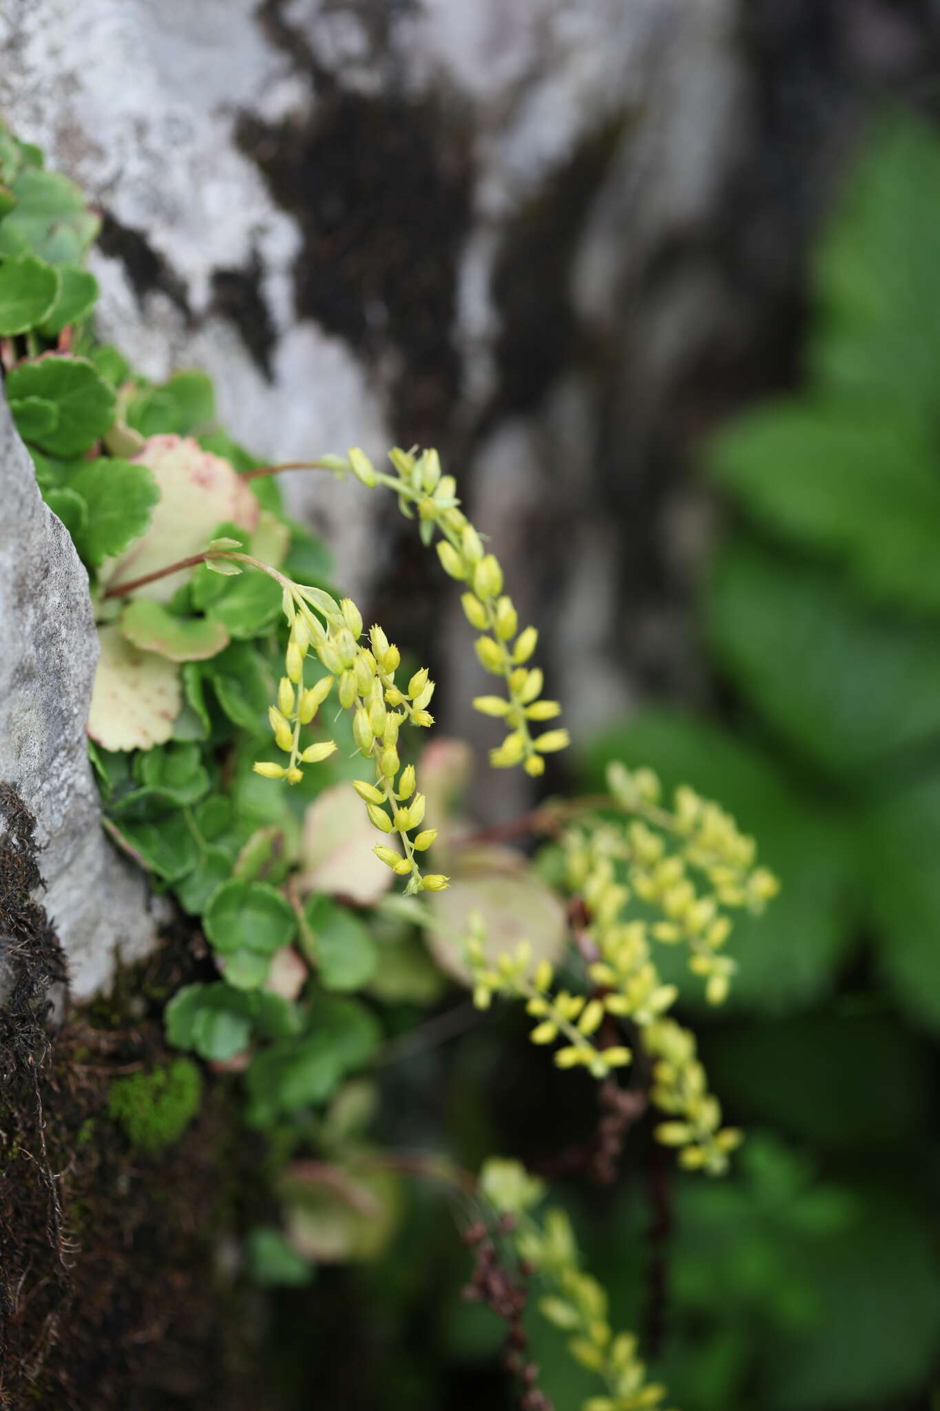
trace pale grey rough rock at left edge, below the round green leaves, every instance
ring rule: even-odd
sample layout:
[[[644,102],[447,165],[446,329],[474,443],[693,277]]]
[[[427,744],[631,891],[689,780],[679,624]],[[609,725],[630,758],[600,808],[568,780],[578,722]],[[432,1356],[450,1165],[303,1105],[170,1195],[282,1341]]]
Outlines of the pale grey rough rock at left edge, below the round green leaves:
[[[0,783],[35,817],[38,900],[65,950],[72,996],[83,999],[107,986],[118,958],[145,954],[155,926],[142,873],[101,832],[87,761],[97,662],[87,574],[39,497],[1,394],[0,504]],[[11,823],[0,803],[0,831]],[[0,948],[7,943],[0,935]]]

